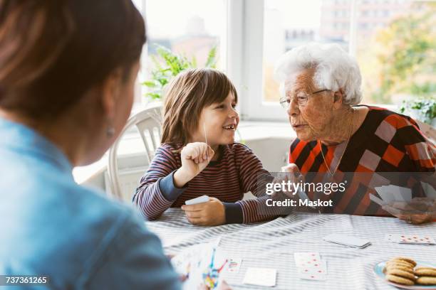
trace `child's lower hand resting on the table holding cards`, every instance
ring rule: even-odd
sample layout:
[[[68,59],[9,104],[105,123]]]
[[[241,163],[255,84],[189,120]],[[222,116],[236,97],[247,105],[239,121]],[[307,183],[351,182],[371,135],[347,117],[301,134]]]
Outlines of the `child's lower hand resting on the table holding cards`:
[[[192,225],[224,225],[226,210],[218,198],[209,198],[206,203],[196,205],[182,205],[187,219]]]

